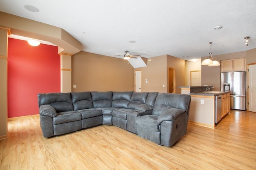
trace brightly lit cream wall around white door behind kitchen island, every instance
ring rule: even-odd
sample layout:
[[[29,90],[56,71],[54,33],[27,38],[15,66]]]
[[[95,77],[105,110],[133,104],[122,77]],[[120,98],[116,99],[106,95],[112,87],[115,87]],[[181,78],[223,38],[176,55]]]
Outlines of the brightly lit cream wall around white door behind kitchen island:
[[[190,71],[201,70],[201,59],[196,62],[185,60],[185,86],[190,86]]]

